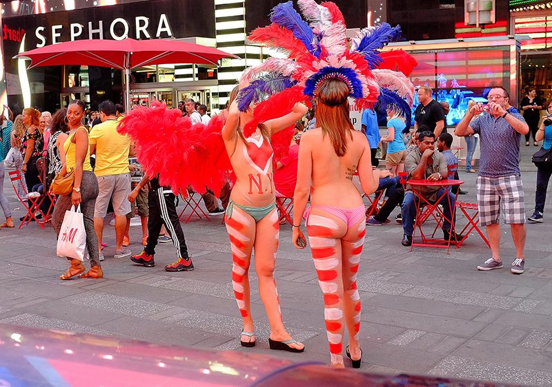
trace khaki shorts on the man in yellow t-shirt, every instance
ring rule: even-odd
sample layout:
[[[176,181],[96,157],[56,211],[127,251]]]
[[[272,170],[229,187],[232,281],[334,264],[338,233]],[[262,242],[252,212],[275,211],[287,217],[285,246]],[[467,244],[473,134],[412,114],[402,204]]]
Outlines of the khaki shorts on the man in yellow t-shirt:
[[[94,218],[105,218],[109,200],[115,215],[126,216],[130,212],[130,174],[98,176],[98,198],[94,209]]]

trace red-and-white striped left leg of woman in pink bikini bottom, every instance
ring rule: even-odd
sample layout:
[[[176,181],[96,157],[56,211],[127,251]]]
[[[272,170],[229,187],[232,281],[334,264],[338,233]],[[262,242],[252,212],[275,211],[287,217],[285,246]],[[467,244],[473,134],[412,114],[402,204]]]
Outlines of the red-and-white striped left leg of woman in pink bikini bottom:
[[[341,243],[336,239],[339,225],[324,216],[308,217],[308,242],[311,244],[318,283],[324,293],[324,320],[332,364],[343,364],[343,283]]]

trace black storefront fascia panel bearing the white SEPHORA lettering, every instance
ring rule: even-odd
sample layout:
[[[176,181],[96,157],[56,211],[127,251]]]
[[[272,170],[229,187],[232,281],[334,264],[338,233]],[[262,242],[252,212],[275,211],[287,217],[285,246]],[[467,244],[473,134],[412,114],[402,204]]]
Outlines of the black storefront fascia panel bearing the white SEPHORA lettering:
[[[197,0],[125,0],[115,6],[6,17],[2,24],[4,49],[14,43],[8,47],[11,57],[21,50],[23,35],[24,50],[80,39],[214,38],[215,6],[211,1],[198,8]]]

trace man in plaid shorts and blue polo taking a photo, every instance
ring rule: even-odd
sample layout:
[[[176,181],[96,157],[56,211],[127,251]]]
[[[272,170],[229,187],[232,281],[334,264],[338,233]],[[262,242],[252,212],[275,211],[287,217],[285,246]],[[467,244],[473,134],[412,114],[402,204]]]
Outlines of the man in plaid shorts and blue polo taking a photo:
[[[503,267],[500,258],[500,212],[504,221],[510,224],[516,256],[511,272],[524,271],[525,248],[525,206],[520,173],[520,139],[529,132],[524,118],[509,112],[509,94],[503,87],[493,87],[487,96],[489,105],[476,103],[462,121],[455,134],[480,136],[480,168],[477,177],[477,206],[480,223],[485,226],[492,257],[477,269],[489,271]],[[483,114],[482,114],[483,113]],[[473,116],[473,121],[471,119]],[[471,121],[471,122],[470,122]],[[502,203],[502,209],[500,209]]]

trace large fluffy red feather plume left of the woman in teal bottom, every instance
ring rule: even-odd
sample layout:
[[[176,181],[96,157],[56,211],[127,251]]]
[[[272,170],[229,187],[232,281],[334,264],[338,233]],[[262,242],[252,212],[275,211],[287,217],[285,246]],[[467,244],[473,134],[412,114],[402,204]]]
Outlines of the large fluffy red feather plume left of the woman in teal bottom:
[[[117,130],[130,136],[144,172],[159,174],[161,185],[175,193],[188,187],[204,193],[209,187],[219,195],[232,169],[221,137],[223,125],[217,116],[208,125],[193,125],[179,109],[153,101],[150,107],[132,109]]]

